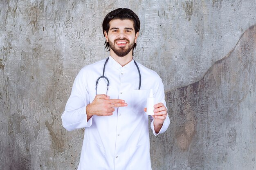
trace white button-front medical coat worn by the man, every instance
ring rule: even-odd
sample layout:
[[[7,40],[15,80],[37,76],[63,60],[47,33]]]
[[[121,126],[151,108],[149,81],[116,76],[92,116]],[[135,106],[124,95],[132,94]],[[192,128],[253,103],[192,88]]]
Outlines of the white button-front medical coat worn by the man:
[[[155,71],[137,63],[141,72],[141,90],[138,90],[139,74],[134,61],[121,66],[110,56],[105,69],[110,82],[107,95],[110,99],[125,100],[128,106],[115,108],[111,116],[94,115],[87,121],[86,106],[95,97],[95,82],[102,75],[105,61],[81,69],[61,116],[67,130],[85,128],[78,170],[151,170],[148,115],[144,108],[150,89],[155,103],[166,106],[162,79]],[[106,87],[106,80],[100,79],[97,94],[106,94]],[[151,116],[150,120],[155,135],[170,124],[167,115],[156,134]]]

